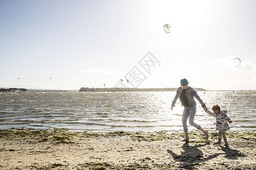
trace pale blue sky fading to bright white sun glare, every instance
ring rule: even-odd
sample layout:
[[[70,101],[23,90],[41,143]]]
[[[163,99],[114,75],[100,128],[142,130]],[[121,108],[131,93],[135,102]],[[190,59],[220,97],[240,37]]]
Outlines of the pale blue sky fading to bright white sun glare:
[[[2,0],[0,88],[256,90],[255,30],[253,0]]]

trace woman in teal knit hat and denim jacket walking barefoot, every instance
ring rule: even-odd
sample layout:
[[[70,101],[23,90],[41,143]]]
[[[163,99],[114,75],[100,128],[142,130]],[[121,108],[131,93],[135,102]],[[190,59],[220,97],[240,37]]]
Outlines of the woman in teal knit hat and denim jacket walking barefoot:
[[[185,139],[182,141],[189,141],[188,137],[188,126],[187,121],[189,117],[189,125],[194,126],[197,129],[200,129],[203,131],[205,138],[208,140],[208,132],[201,128],[200,125],[197,125],[194,122],[195,115],[196,115],[196,101],[194,97],[200,102],[201,106],[204,108],[204,111],[207,112],[207,107],[205,107],[205,104],[203,103],[203,100],[200,99],[200,97],[197,95],[196,91],[193,90],[192,87],[188,86],[188,80],[187,79],[181,79],[180,80],[181,87],[177,88],[176,95],[174,97],[174,101],[172,101],[171,110],[174,109],[175,103],[177,101],[177,98],[180,99],[181,106],[184,107],[183,114],[182,114],[182,125],[185,133]]]

